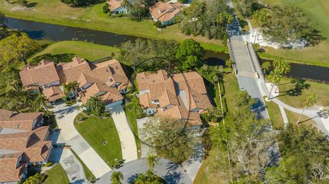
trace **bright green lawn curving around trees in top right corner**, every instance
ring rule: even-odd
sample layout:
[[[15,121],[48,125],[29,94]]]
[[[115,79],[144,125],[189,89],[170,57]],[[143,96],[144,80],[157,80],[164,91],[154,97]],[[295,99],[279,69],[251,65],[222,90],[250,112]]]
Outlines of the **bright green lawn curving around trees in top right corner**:
[[[278,2],[278,1],[276,1]],[[266,48],[269,55],[262,57],[271,57],[271,55],[285,57],[292,62],[302,62],[306,64],[315,64],[329,67],[329,1],[328,0],[280,0],[281,3],[289,3],[302,8],[315,23],[321,35],[327,39],[315,47],[305,49],[271,49]]]

